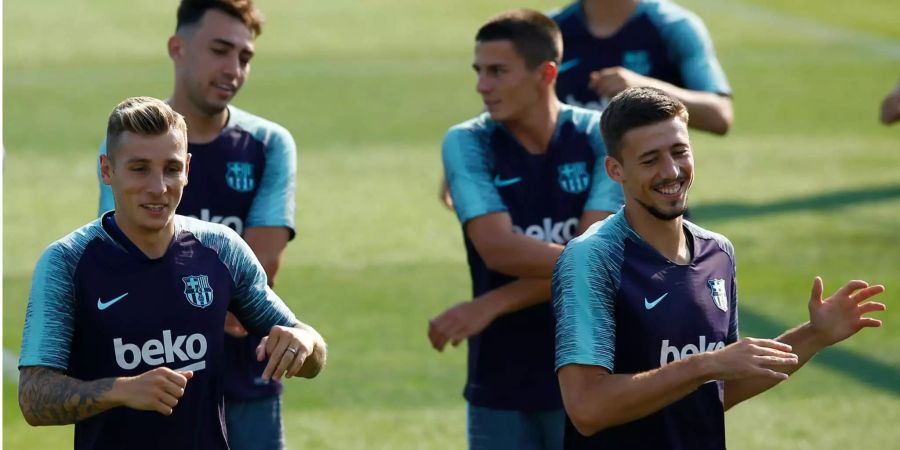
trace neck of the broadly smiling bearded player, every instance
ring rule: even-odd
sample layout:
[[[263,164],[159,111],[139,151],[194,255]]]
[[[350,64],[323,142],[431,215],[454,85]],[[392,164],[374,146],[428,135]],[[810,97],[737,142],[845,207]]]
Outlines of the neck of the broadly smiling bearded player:
[[[691,262],[691,252],[684,235],[682,217],[660,220],[640,205],[625,205],[625,219],[631,228],[651,247],[675,264]]]

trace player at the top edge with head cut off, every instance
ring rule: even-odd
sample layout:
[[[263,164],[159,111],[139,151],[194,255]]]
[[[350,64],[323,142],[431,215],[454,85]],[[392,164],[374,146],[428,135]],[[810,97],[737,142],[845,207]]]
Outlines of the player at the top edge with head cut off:
[[[566,49],[556,84],[564,102],[602,111],[622,90],[652,86],[687,106],[691,127],[728,132],[731,88],[692,12],[669,0],[583,0],[551,18]]]

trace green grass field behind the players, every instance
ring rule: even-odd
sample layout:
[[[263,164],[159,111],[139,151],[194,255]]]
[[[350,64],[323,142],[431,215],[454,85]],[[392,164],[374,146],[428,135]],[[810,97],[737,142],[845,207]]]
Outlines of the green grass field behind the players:
[[[3,347],[18,351],[30,275],[96,212],[96,146],[126,96],[170,93],[174,3],[6,2]],[[259,0],[269,17],[240,107],[300,151],[298,237],[278,291],[330,344],[291,380],[289,447],[460,449],[465,351],[431,350],[430,317],[470,290],[454,216],[436,201],[439,146],[480,109],[472,36],[489,15],[552,1]],[[819,355],[727,415],[732,449],[898,448],[900,126],[877,123],[897,82],[900,7],[873,0],[689,0],[734,88],[726,138],[694,134],[698,222],[729,236],[742,334],[804,320],[813,276],[884,283],[886,325]],[[3,383],[3,444],[66,448],[31,428]]]

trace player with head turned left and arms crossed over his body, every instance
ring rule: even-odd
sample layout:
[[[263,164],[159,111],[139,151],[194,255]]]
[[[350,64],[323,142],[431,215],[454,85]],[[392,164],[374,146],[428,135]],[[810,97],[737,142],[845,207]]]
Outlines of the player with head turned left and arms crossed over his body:
[[[473,63],[487,112],[443,142],[475,298],[435,317],[429,339],[439,351],[468,339],[471,449],[562,445],[550,276],[563,245],[622,202],[603,170],[600,114],[556,98],[561,53],[538,12],[488,21]]]

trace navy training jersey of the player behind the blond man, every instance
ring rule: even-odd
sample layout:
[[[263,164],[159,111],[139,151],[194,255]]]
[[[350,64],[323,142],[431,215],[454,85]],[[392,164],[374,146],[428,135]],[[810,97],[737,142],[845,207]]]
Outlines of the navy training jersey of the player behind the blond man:
[[[286,227],[294,235],[297,153],[281,126],[228,107],[228,123],[206,144],[188,144],[188,185],[177,213],[221,223],[238,234],[252,227]],[[106,153],[104,141],[100,153]],[[112,190],[100,183],[100,214],[115,207]],[[228,399],[247,400],[281,392],[278,382],[264,382],[265,364],[257,363],[254,337],[226,336]]]

